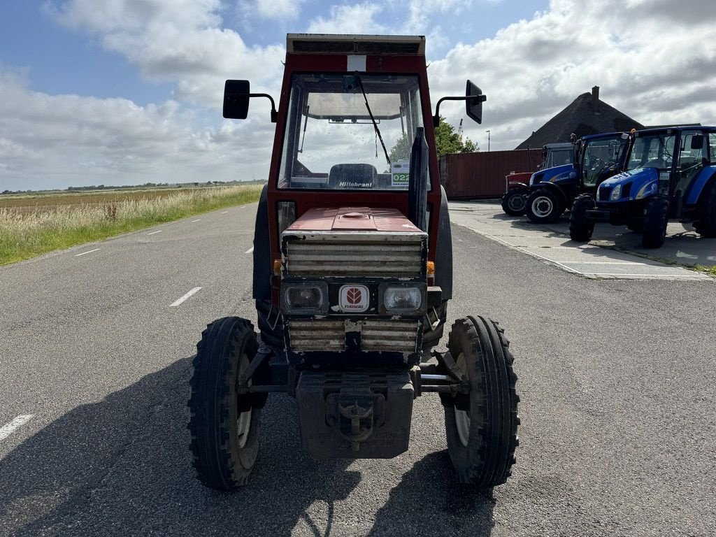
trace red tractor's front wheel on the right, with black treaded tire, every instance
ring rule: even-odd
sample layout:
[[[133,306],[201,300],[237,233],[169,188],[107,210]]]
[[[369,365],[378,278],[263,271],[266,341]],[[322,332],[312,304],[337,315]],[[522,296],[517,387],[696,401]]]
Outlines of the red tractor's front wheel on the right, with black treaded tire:
[[[489,489],[511,475],[519,444],[517,375],[510,342],[497,322],[458,319],[448,349],[470,382],[469,395],[442,397],[448,454],[461,483]]]

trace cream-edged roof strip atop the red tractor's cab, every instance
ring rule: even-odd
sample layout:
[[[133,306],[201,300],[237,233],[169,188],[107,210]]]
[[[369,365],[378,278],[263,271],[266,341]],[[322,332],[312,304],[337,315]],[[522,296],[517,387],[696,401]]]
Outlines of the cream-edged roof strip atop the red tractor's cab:
[[[288,34],[289,54],[425,56],[425,36]]]

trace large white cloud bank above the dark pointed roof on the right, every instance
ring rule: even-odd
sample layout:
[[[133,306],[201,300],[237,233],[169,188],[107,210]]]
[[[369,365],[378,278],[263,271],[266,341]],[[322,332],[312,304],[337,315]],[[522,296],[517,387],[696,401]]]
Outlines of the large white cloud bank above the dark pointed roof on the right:
[[[716,4],[616,0],[553,0],[533,19],[501,29],[492,39],[457,44],[432,62],[432,95],[455,93],[465,79],[486,95],[483,125],[465,134],[511,149],[591,87],[601,99],[647,125],[716,120]],[[700,16],[694,16],[694,9]],[[435,98],[434,97],[434,98]],[[463,108],[445,107],[457,124]],[[483,143],[483,145],[485,145]]]

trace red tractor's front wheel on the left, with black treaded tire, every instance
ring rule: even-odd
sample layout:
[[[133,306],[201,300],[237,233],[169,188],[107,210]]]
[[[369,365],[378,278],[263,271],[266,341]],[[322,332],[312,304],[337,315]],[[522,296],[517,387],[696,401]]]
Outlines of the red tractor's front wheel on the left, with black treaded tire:
[[[208,488],[246,485],[256,463],[261,409],[251,405],[251,395],[236,392],[256,350],[253,326],[239,317],[213,321],[196,345],[189,430],[193,466]]]

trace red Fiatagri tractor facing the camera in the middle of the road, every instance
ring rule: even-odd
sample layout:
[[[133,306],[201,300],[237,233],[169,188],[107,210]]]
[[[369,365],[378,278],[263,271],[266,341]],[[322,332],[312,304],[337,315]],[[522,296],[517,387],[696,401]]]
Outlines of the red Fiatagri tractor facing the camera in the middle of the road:
[[[511,475],[516,374],[496,321],[468,316],[442,337],[453,256],[435,125],[442,100],[485,97],[468,81],[435,115],[425,37],[289,34],[281,100],[227,80],[224,117],[269,97],[276,122],[269,183],[253,239],[258,330],[209,324],[189,400],[200,481],[246,483],[271,392],[296,399],[301,445],[315,458],[392,458],[410,439],[415,397],[436,392],[463,483]]]

